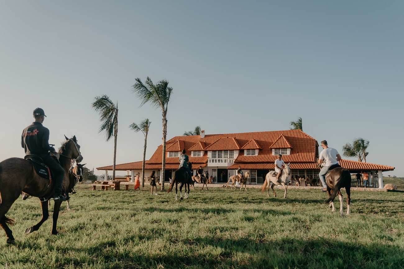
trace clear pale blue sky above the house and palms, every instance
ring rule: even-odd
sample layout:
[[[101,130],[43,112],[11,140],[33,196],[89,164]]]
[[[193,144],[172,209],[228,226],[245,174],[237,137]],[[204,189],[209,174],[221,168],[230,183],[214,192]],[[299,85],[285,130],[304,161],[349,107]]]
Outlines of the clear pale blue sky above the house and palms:
[[[162,140],[159,109],[135,79],[173,88],[167,139],[303,131],[342,154],[370,141],[368,163],[404,177],[403,1],[0,0],[0,160],[23,157],[22,130],[44,109],[50,144],[76,135],[87,167],[112,165],[95,96],[118,102],[117,164],[146,159]],[[321,148],[320,148],[321,151]],[[355,158],[348,158],[356,160]],[[96,171],[96,174],[103,173]]]

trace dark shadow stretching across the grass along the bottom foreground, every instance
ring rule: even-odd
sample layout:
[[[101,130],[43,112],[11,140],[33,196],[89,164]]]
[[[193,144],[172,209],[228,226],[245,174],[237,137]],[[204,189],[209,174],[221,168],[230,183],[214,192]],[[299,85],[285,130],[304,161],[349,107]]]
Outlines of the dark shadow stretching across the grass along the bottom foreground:
[[[163,250],[154,254],[147,250],[122,250],[126,244],[153,244],[151,236],[128,235],[119,242],[105,240],[90,248],[61,248],[61,253],[86,252],[88,262],[102,262],[109,268],[402,268],[404,257],[398,246],[379,243],[360,245],[338,240],[292,239],[267,240],[223,239],[212,236],[175,240],[166,238],[170,245],[180,249]],[[164,238],[161,238],[164,239]],[[151,243],[150,243],[151,242]],[[118,245],[120,247],[118,247]],[[161,253],[161,252],[160,252]],[[62,262],[62,261],[61,261]],[[66,257],[59,264],[80,265],[74,257]]]

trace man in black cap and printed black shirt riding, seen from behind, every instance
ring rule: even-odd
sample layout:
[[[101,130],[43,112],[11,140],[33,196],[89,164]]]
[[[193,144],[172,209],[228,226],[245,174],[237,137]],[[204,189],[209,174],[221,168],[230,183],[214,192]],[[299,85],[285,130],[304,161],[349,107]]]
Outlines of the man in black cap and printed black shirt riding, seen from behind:
[[[25,150],[25,154],[34,154],[42,158],[44,163],[53,171],[55,176],[55,202],[64,201],[65,196],[62,195],[63,178],[65,170],[58,161],[50,156],[49,151],[55,151],[55,148],[49,146],[49,129],[44,127],[42,123],[46,117],[42,108],[34,110],[35,121],[23,130],[21,135],[21,146]]]

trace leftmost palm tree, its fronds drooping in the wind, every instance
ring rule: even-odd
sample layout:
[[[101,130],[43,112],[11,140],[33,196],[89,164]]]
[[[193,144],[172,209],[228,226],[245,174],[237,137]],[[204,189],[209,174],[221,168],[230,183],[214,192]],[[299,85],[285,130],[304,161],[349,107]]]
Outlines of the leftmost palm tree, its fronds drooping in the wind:
[[[100,115],[101,126],[99,133],[105,131],[105,140],[109,141],[114,136],[114,165],[112,167],[112,179],[115,179],[116,166],[116,140],[118,138],[118,102],[114,104],[109,96],[95,96],[93,109]],[[106,180],[106,179],[105,179]]]

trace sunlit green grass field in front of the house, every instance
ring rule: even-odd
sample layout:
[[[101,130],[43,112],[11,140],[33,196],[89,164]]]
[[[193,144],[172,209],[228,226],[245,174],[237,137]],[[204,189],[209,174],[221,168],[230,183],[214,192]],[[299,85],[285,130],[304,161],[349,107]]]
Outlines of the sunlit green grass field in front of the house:
[[[319,190],[290,190],[284,199],[199,188],[176,202],[149,189],[77,189],[72,211],[62,204],[57,236],[50,219],[25,235],[40,205],[15,202],[7,215],[17,221],[16,244],[1,231],[0,267],[404,268],[403,192],[352,192],[351,215],[340,217],[338,198],[331,213]]]

